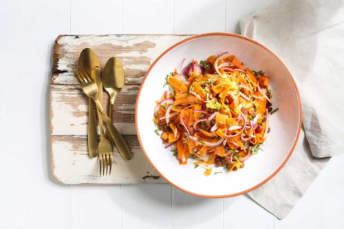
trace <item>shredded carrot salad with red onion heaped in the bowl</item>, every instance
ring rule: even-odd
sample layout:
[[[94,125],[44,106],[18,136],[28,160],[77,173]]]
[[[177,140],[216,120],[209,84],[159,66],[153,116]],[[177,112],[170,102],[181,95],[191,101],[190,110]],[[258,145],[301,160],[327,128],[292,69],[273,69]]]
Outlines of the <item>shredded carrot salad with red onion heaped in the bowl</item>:
[[[213,164],[237,171],[266,140],[270,77],[251,71],[234,55],[198,63],[191,61],[183,75],[174,69],[166,76],[169,93],[155,101],[153,122],[166,146],[178,152],[180,164],[193,158],[193,164],[205,164],[205,175],[211,175]]]

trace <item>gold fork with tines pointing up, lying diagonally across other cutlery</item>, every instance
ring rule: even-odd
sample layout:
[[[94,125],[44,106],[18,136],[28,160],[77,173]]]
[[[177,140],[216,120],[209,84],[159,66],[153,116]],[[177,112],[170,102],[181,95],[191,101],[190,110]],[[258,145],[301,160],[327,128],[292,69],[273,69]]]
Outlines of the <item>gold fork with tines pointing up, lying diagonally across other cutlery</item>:
[[[92,72],[94,72],[94,69],[92,69]],[[81,74],[78,74],[77,78],[85,94],[89,96],[89,98],[92,98],[94,102],[96,102],[96,107],[100,111],[100,113],[102,113],[105,123],[107,124],[107,129],[109,130],[111,138],[114,140],[117,149],[120,152],[120,155],[123,157],[124,160],[130,160],[132,154],[129,146],[122,138],[122,135],[120,135],[114,124],[112,124],[109,116],[107,116],[107,113],[105,113],[100,101],[98,100],[98,88],[96,82],[86,71],[82,71]]]

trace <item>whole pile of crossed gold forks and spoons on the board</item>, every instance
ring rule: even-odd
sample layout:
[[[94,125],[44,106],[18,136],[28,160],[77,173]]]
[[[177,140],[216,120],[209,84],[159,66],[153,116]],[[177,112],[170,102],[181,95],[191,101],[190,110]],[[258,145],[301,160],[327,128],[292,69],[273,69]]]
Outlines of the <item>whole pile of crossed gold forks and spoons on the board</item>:
[[[107,61],[103,69],[103,73],[101,73],[98,57],[91,49],[85,48],[78,59],[77,78],[83,91],[89,97],[87,130],[89,155],[91,157],[96,157],[98,155],[100,175],[110,175],[114,157],[112,142],[115,143],[124,160],[130,160],[132,157],[129,146],[113,124],[115,97],[120,89],[125,85],[124,69],[118,58],[111,57]],[[102,106],[103,88],[107,91],[110,98],[108,114],[105,113]],[[95,108],[98,113],[100,140],[98,139],[97,133],[96,115],[94,113]],[[106,135],[103,127],[103,120],[107,127]]]

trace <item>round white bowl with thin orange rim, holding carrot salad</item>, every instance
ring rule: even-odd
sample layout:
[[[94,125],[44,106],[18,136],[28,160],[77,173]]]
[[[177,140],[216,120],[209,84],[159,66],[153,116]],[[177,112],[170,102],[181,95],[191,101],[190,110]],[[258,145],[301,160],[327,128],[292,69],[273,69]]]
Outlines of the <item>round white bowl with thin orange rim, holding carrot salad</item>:
[[[272,107],[279,111],[270,116],[270,133],[262,144],[264,151],[250,157],[236,172],[203,175],[203,168],[178,164],[170,149],[164,149],[155,135],[152,122],[155,100],[160,100],[165,76],[185,63],[204,60],[212,54],[230,52],[250,69],[270,76]],[[201,197],[233,197],[268,182],[286,164],[301,129],[301,101],[297,85],[286,65],[264,45],[245,36],[210,33],[192,36],[163,52],[151,65],[142,81],[136,100],[136,131],[141,148],[151,165],[166,181],[186,193]],[[214,170],[214,169],[213,169]],[[215,171],[223,168],[215,168]]]

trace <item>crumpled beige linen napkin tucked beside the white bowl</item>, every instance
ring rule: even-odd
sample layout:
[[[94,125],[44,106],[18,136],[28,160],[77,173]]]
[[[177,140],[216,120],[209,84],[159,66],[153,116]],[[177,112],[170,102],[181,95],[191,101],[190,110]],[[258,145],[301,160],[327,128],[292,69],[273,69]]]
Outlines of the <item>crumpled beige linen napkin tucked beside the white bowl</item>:
[[[277,1],[239,25],[242,35],[286,63],[301,94],[303,129],[294,153],[275,177],[248,193],[283,219],[330,157],[344,151],[344,1]]]

